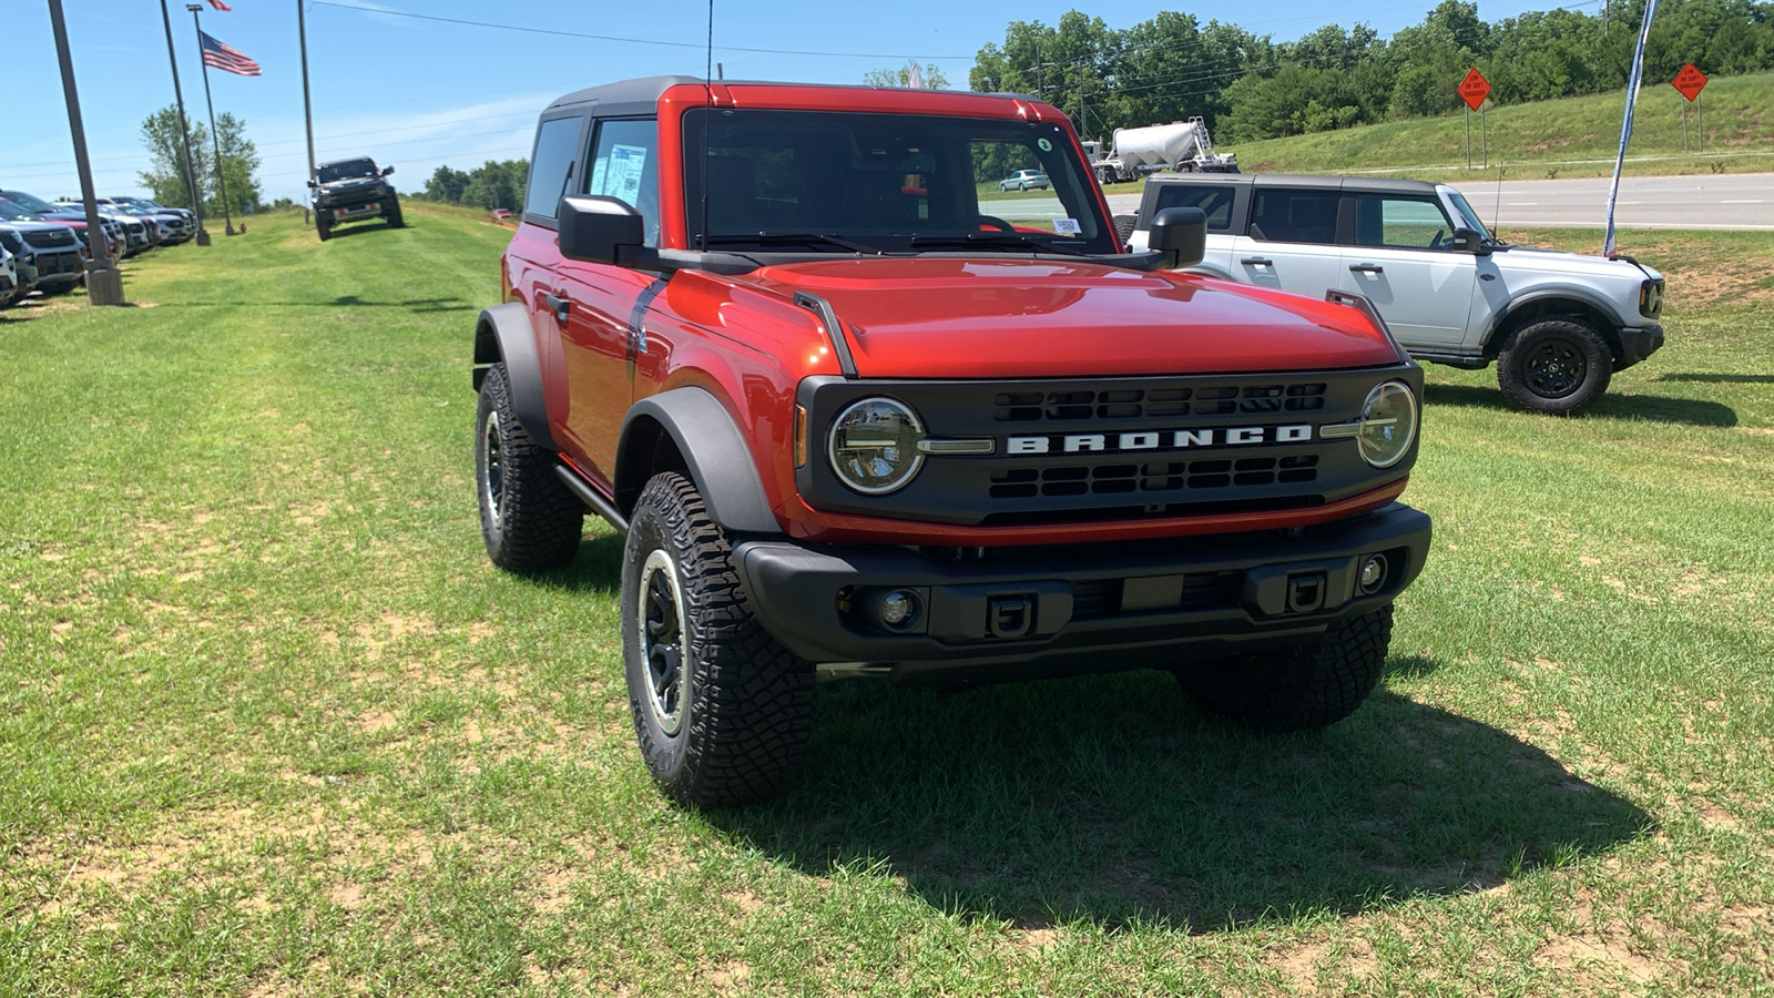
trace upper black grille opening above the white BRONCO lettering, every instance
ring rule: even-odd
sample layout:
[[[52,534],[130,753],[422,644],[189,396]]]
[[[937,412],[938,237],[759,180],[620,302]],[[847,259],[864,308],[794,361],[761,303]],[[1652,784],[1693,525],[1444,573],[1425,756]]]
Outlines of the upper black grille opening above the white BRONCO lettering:
[[[1167,389],[1071,389],[997,392],[993,419],[1174,419],[1178,416],[1238,416],[1315,412],[1325,407],[1323,382],[1265,385],[1206,385]]]

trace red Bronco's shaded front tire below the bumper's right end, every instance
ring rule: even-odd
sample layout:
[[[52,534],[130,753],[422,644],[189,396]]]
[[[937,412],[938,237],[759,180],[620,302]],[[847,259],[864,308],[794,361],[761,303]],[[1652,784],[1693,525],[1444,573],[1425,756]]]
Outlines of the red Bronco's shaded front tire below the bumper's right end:
[[[1393,607],[1332,623],[1311,645],[1178,669],[1203,705],[1261,732],[1309,732],[1348,717],[1373,693]]]

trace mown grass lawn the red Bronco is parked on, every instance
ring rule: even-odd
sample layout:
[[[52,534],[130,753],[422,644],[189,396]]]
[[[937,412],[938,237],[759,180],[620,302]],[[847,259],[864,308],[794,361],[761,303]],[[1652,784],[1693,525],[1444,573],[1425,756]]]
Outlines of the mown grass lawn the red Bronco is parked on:
[[[0,313],[0,994],[1774,994],[1774,236],[1627,233],[1669,346],[1588,417],[1428,371],[1352,719],[837,684],[793,796],[692,813],[619,542],[481,550],[509,229],[408,218]]]

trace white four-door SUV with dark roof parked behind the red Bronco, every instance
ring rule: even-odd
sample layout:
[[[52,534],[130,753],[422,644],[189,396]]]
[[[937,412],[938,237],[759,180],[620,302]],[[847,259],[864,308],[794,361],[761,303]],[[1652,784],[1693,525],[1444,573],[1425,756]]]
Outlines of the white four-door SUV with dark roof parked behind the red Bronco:
[[[1142,247],[1166,208],[1199,208],[1208,243],[1192,270],[1245,284],[1364,295],[1419,360],[1497,364],[1513,403],[1581,412],[1614,371],[1664,343],[1664,275],[1497,242],[1449,185],[1410,179],[1155,176],[1134,222]]]

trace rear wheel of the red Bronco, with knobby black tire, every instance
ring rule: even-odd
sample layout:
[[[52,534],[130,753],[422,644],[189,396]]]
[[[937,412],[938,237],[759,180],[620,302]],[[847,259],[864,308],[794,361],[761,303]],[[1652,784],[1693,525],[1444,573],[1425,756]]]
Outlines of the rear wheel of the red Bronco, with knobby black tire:
[[[546,572],[578,554],[585,504],[555,476],[553,465],[555,455],[518,423],[506,366],[493,364],[474,412],[474,490],[481,538],[493,565],[518,574]]]

